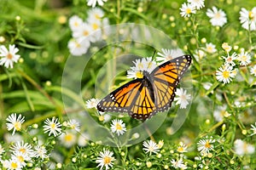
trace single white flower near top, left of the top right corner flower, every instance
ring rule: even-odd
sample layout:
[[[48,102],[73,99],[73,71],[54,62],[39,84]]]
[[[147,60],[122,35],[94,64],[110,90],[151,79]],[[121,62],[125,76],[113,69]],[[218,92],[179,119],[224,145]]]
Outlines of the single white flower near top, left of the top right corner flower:
[[[227,17],[224,11],[214,6],[212,9],[207,9],[207,16],[211,18],[210,22],[212,26],[224,26],[224,24],[227,23]]]

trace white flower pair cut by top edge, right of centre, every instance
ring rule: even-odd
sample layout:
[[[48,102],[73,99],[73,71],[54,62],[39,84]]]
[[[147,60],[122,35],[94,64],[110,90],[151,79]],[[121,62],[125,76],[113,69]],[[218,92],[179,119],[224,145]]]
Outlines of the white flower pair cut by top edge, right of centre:
[[[180,8],[180,14],[183,17],[190,17],[195,14],[197,9],[205,7],[205,0],[188,0],[188,3],[183,3]]]

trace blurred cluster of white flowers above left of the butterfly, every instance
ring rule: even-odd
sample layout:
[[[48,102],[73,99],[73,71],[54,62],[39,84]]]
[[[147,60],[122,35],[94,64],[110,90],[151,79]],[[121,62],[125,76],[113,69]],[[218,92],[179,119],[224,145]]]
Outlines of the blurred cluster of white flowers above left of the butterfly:
[[[92,8],[88,11],[86,21],[73,15],[69,19],[69,26],[73,38],[68,42],[68,48],[73,55],[86,54],[90,44],[102,39],[103,27],[109,26],[108,18],[103,18],[104,12],[101,8]]]

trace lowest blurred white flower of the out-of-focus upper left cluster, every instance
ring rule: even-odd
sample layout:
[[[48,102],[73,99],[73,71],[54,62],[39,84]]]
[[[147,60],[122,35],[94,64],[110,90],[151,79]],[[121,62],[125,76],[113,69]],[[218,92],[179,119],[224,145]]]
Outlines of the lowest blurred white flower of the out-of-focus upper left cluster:
[[[82,54],[86,54],[88,48],[90,47],[90,41],[86,38],[79,38],[79,39],[71,39],[67,47],[71,54],[79,56]]]

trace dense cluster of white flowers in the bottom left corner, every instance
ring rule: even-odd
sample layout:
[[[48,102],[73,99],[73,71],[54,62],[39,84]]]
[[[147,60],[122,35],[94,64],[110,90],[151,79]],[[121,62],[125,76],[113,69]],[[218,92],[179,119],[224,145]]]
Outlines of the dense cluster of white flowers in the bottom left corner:
[[[4,150],[0,145],[0,152],[3,153]],[[44,145],[35,145],[32,147],[31,144],[25,143],[24,141],[15,142],[10,147],[10,159],[1,159],[0,161],[4,168],[6,169],[22,169],[27,166],[27,163],[32,163],[32,158],[41,158],[44,160],[48,158],[49,155],[47,154],[47,150],[45,149]],[[0,155],[1,155],[0,153]]]

